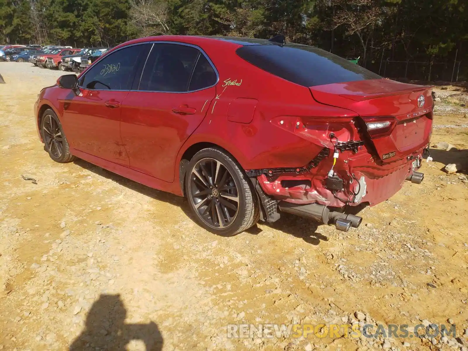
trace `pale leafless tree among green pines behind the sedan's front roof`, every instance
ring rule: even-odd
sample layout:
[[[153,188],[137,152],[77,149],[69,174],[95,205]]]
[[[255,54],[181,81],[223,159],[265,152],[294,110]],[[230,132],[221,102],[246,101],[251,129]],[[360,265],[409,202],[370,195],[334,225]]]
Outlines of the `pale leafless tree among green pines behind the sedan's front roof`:
[[[131,0],[132,22],[143,35],[168,34],[168,4],[164,0]]]

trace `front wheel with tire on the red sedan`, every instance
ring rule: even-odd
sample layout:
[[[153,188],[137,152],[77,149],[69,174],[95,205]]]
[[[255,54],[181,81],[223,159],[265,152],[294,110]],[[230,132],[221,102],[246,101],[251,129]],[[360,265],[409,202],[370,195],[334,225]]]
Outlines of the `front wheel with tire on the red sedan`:
[[[51,109],[44,111],[41,117],[41,136],[44,140],[44,149],[52,160],[66,163],[74,160],[70,154],[70,145],[66,139],[59,118]]]

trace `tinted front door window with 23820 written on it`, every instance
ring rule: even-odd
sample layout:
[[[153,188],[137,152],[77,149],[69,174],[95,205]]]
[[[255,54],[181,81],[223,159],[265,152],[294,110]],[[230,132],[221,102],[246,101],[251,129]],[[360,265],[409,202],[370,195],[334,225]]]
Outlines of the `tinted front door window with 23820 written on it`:
[[[88,68],[80,86],[96,90],[130,90],[135,75],[139,77],[141,61],[151,44],[131,45],[114,51]]]

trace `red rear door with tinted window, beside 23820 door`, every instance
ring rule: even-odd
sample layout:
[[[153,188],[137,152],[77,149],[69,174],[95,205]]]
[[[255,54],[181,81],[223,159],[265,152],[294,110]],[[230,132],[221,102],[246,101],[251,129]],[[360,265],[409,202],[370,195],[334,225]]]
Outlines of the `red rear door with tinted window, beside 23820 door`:
[[[205,117],[217,80],[199,48],[154,43],[139,84],[122,104],[121,135],[130,168],[174,181],[176,156]]]

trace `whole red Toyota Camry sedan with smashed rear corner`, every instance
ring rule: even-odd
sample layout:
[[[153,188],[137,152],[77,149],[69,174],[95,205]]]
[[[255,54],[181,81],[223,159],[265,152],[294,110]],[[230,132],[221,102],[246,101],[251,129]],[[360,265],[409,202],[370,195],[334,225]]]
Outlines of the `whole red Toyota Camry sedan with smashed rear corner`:
[[[294,213],[340,230],[421,183],[431,87],[321,49],[236,37],[145,37],[65,75],[36,102],[52,160],[79,157],[189,200],[233,235]]]

